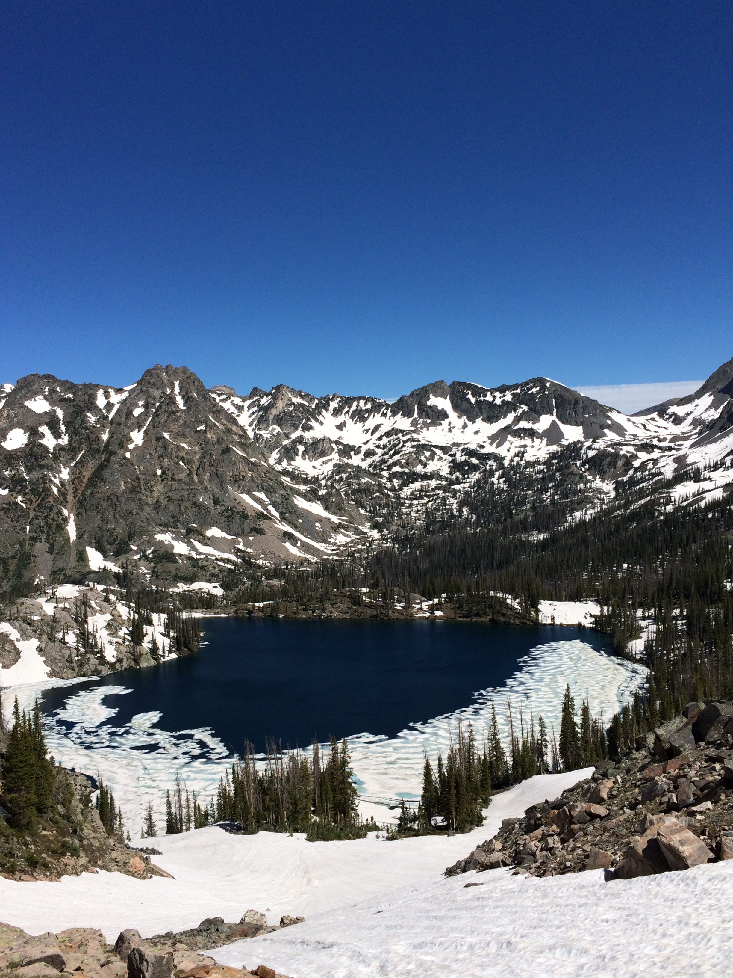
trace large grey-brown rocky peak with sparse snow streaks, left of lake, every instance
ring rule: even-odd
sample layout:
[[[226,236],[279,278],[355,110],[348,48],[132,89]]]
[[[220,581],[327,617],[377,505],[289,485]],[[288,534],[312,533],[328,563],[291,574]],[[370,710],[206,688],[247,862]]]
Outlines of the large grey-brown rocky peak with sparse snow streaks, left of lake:
[[[125,563],[153,583],[220,578],[248,559],[291,559],[283,532],[305,559],[345,529],[185,367],[153,367],[125,389],[22,378],[0,398],[0,471],[0,591],[11,596],[36,579],[113,583]],[[344,540],[364,522],[347,509]]]

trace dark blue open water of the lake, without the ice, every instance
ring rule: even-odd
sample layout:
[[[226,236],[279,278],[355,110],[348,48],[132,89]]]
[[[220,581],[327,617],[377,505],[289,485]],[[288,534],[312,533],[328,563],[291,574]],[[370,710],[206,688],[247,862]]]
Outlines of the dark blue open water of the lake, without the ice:
[[[500,686],[517,661],[549,642],[582,639],[610,651],[606,636],[561,626],[440,621],[303,621],[204,618],[197,655],[51,689],[43,709],[71,691],[123,686],[110,695],[113,723],[162,711],[168,731],[211,727],[232,750],[267,737],[283,746],[355,733],[394,736],[412,722],[453,712],[473,692]],[[571,677],[568,677],[571,679]]]

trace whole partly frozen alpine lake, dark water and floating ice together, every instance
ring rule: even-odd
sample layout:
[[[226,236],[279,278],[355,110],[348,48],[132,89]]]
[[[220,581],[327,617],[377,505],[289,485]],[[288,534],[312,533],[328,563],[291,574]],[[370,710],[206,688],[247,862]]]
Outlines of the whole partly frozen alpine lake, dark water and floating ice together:
[[[162,814],[176,773],[207,799],[245,737],[262,749],[270,735],[283,745],[346,736],[363,813],[385,822],[395,818],[385,803],[419,795],[425,752],[445,754],[459,722],[480,741],[494,704],[506,742],[508,702],[515,723],[521,707],[525,721],[541,714],[558,731],[566,683],[579,705],[609,718],[646,677],[608,654],[605,637],[575,628],[233,619],[205,628],[196,656],[4,694],[29,706],[46,689],[49,749],[112,786],[133,837],[149,798]]]

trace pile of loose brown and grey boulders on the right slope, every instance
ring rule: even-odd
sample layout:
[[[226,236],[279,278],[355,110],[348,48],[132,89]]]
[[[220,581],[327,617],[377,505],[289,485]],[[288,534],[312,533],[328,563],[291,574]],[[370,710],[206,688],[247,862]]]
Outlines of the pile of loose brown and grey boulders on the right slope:
[[[523,819],[506,819],[447,875],[513,866],[630,879],[733,858],[733,704],[691,703],[637,747]]]

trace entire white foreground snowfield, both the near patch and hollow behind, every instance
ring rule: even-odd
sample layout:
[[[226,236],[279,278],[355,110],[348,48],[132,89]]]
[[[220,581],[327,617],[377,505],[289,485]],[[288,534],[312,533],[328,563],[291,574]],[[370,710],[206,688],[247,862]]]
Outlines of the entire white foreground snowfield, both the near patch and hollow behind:
[[[218,828],[156,839],[175,876],[83,873],[61,882],[0,878],[3,918],[39,934],[98,927],[108,941],[237,920],[247,908],[306,922],[211,952],[294,978],[718,978],[733,953],[733,863],[633,880],[603,870],[546,879],[495,869],[442,877],[504,818],[587,772],[545,775],[494,799],[468,835],[305,842]],[[478,883],[478,886],[472,886]]]

